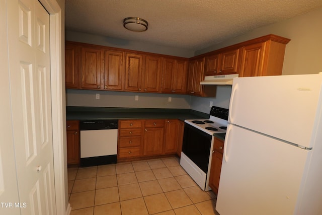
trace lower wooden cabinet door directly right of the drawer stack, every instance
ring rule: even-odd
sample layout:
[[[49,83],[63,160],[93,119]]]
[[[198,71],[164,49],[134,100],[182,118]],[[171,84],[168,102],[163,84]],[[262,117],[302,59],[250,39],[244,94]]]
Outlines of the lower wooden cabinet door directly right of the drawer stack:
[[[145,128],[143,135],[143,155],[162,154],[164,128]]]

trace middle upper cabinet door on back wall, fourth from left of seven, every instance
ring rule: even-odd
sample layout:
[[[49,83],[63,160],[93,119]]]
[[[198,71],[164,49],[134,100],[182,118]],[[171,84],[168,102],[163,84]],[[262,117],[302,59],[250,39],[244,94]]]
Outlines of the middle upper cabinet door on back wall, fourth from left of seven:
[[[126,53],[126,91],[141,91],[142,60],[143,57],[140,54]]]

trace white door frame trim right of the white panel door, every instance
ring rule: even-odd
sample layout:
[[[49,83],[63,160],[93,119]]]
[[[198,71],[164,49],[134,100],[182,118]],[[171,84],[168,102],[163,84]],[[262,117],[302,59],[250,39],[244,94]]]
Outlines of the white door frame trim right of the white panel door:
[[[69,214],[66,165],[66,102],[65,76],[62,59],[64,57],[64,31],[62,11],[57,0],[39,0],[50,15],[50,70],[51,70],[51,110],[54,157],[55,201],[57,214]],[[67,205],[67,207],[66,207]]]

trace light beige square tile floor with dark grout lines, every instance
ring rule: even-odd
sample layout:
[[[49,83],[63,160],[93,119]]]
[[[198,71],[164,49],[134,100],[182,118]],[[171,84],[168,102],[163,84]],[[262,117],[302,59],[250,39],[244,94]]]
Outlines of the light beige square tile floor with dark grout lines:
[[[68,195],[71,215],[218,214],[176,157],[68,168]]]

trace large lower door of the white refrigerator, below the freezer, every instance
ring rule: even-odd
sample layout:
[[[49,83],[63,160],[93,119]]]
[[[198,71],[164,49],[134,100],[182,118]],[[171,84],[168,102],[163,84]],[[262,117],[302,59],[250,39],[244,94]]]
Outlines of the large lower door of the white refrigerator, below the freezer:
[[[216,210],[231,214],[294,214],[310,151],[228,125]]]

